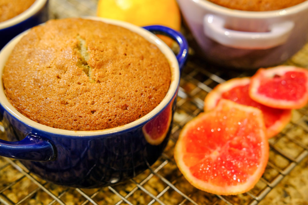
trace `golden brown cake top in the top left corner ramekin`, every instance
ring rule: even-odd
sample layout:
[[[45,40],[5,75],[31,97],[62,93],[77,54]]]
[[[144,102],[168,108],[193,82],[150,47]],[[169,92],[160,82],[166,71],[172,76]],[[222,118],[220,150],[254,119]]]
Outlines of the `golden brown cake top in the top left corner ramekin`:
[[[34,2],[35,0],[0,0],[0,22],[21,14]]]

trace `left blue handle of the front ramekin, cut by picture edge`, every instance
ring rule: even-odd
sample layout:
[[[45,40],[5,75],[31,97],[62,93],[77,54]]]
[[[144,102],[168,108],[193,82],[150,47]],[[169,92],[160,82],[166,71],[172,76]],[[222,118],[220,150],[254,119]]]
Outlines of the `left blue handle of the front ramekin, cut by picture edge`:
[[[0,140],[0,156],[18,160],[51,161],[55,159],[56,152],[49,140],[29,134],[17,142]]]

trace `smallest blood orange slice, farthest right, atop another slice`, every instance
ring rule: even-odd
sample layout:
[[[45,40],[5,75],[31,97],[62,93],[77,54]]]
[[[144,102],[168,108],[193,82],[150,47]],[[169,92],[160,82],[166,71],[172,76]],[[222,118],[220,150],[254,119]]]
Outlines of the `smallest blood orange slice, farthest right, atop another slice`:
[[[273,108],[302,108],[308,101],[308,70],[284,65],[259,69],[251,77],[249,95]]]

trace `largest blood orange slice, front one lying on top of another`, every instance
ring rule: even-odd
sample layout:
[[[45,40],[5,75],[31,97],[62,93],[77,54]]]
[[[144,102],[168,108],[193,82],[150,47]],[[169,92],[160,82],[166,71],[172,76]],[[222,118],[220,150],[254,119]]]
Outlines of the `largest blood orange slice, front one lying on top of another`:
[[[176,164],[189,183],[220,195],[253,188],[268,155],[262,112],[225,99],[189,121],[174,150]]]

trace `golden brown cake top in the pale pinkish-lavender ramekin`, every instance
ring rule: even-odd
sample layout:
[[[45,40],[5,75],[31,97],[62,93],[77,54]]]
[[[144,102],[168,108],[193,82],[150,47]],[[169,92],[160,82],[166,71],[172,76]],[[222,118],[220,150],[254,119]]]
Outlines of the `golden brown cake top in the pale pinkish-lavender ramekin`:
[[[245,11],[271,11],[285,9],[305,0],[209,0],[220,6]]]

